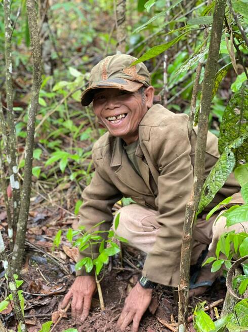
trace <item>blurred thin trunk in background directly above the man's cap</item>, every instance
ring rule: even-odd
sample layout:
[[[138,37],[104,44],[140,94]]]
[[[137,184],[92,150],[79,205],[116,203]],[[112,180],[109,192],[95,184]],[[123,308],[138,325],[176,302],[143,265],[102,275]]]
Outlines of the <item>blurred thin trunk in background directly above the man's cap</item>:
[[[114,0],[115,4],[115,0]],[[117,0],[115,5],[116,15],[116,51],[118,53],[126,53],[126,0]]]

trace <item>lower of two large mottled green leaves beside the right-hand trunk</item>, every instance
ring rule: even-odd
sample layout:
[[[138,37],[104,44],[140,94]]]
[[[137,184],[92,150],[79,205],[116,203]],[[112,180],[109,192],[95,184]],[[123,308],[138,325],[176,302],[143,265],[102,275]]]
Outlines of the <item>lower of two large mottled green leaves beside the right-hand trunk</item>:
[[[231,150],[225,151],[212,168],[202,187],[198,213],[208,206],[217,192],[222,188],[235,165],[234,154]]]

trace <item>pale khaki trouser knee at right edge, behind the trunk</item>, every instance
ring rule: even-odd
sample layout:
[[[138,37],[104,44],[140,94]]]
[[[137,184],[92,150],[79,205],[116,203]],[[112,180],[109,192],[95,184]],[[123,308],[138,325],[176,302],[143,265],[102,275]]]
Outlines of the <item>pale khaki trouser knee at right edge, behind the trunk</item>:
[[[241,232],[248,232],[248,222],[238,223],[235,225],[232,225],[230,227],[226,226],[226,217],[221,216],[222,213],[225,211],[221,211],[219,215],[217,216],[214,224],[213,224],[213,238],[212,242],[209,246],[209,251],[211,254],[215,255],[215,250],[217,246],[217,242],[220,239],[221,235],[230,231],[235,231],[235,234],[241,233]]]

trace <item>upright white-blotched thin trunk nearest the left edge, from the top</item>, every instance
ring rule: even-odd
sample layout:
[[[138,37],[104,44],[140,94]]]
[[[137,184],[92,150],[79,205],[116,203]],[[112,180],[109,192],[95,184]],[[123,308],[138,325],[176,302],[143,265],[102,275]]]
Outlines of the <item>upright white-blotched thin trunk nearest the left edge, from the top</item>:
[[[6,62],[6,101],[7,101],[7,123],[8,123],[8,149],[6,157],[9,165],[10,184],[12,189],[13,218],[9,220],[8,233],[10,246],[13,246],[13,234],[16,229],[20,207],[20,183],[18,180],[18,163],[16,149],[16,129],[13,112],[13,87],[12,87],[12,25],[10,19],[10,1],[4,0],[4,20],[5,20],[5,62]],[[7,147],[7,146],[6,146]]]

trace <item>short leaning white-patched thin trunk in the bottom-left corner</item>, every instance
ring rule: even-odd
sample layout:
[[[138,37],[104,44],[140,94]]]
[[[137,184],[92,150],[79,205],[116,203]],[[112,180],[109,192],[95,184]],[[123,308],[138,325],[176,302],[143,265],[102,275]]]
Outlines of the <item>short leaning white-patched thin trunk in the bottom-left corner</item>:
[[[3,263],[3,267],[8,275],[8,281],[9,281],[9,288],[13,297],[13,302],[14,302],[14,310],[15,310],[15,314],[16,314],[16,318],[19,322],[19,326],[20,326],[20,330],[21,332],[27,332],[27,327],[25,324],[25,320],[22,314],[22,310],[21,310],[21,305],[20,305],[20,300],[18,297],[18,292],[17,292],[17,288],[16,288],[16,281],[14,279],[13,274],[9,272],[9,263],[8,263],[8,256],[7,253],[5,251],[5,245],[4,245],[4,240],[2,237],[2,232],[0,231],[0,260]]]

